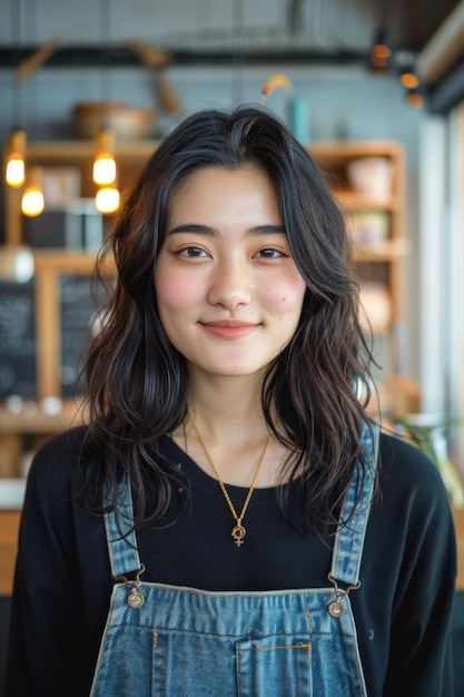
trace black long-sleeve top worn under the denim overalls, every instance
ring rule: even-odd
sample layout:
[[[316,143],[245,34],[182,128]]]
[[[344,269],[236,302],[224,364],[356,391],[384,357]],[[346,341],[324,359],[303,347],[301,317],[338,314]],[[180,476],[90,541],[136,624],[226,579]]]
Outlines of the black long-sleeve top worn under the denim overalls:
[[[77,429],[49,441],[29,473],[6,697],[89,694],[112,580],[102,518],[76,497],[81,438]],[[188,478],[190,498],[176,524],[138,531],[145,581],[216,591],[327,587],[333,538],[302,532],[297,487],[289,485],[292,526],[273,489],[255,490],[246,543],[237,548],[218,483],[170,439],[162,449]],[[351,595],[367,694],[451,697],[456,558],[447,495],[416,448],[382,434],[379,457],[362,587]],[[244,490],[228,490],[239,505]]]

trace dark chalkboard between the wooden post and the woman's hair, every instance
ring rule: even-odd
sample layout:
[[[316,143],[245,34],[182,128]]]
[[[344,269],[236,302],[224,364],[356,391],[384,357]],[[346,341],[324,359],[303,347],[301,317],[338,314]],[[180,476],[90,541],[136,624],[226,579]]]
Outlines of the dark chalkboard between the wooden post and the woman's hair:
[[[81,396],[86,383],[80,376],[90,332],[95,326],[97,308],[91,293],[91,277],[60,276],[61,322],[61,396]],[[103,289],[97,288],[97,303],[102,304]]]

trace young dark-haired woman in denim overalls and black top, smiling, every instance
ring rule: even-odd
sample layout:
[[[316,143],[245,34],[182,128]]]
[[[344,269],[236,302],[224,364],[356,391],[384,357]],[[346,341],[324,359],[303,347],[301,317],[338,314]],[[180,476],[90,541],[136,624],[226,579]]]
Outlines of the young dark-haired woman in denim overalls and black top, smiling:
[[[455,541],[379,433],[343,217],[264,109],[199,112],[106,253],[89,423],[38,452],[7,695],[448,697]]]

